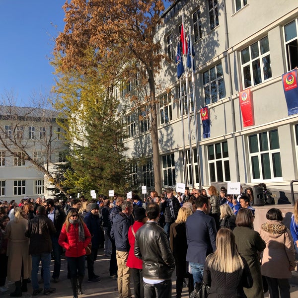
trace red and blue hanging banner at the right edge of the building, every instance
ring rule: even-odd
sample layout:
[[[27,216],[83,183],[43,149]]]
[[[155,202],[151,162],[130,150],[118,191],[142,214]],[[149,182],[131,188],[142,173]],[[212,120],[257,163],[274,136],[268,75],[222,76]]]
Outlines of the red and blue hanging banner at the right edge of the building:
[[[288,106],[288,115],[298,114],[297,69],[283,74],[283,86]]]

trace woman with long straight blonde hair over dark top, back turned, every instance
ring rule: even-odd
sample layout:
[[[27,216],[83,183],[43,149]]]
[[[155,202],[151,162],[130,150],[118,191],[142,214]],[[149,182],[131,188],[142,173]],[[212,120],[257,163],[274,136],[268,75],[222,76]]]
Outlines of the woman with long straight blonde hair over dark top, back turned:
[[[210,286],[208,298],[246,298],[243,287],[250,288],[253,280],[245,259],[237,251],[231,230],[218,231],[216,251],[206,258],[203,281]]]

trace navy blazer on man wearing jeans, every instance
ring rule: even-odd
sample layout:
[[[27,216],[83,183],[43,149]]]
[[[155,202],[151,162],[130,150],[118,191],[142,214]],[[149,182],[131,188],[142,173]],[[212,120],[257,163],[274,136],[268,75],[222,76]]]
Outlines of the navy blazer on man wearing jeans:
[[[216,225],[213,217],[197,210],[186,220],[186,261],[205,264],[206,257],[216,249]]]

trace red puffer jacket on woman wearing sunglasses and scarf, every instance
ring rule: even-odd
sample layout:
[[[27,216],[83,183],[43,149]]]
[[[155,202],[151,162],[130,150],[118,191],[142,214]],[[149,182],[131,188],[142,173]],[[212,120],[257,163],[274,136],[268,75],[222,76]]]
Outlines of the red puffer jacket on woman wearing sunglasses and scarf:
[[[80,257],[86,254],[85,248],[91,241],[91,234],[84,224],[85,241],[78,241],[78,224],[70,224],[69,231],[65,229],[66,224],[63,224],[59,236],[58,243],[66,249],[65,256],[67,257]]]

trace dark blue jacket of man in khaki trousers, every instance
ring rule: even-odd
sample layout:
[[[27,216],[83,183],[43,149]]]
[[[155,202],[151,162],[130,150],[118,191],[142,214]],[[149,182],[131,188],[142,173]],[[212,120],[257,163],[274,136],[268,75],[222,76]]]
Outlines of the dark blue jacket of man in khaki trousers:
[[[115,240],[116,250],[129,251],[128,230],[131,220],[123,212],[119,212],[113,219],[111,238]]]

